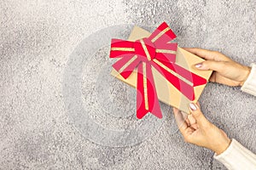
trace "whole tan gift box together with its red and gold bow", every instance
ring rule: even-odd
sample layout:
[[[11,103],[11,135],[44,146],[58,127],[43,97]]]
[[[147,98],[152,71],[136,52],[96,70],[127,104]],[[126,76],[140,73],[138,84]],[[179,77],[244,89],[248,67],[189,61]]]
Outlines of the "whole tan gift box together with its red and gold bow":
[[[159,100],[189,114],[212,71],[195,70],[204,59],[177,46],[176,35],[164,22],[153,33],[135,26],[128,40],[113,39],[111,75],[137,88],[137,118],[148,112],[161,118]]]

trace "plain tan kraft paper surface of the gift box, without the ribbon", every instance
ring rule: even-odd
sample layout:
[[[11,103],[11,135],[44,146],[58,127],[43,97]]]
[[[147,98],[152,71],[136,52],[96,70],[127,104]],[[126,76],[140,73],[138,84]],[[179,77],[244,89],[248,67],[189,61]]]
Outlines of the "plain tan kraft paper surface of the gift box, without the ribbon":
[[[150,37],[150,35],[150,32],[143,30],[143,28],[135,26],[131,31],[131,35],[128,38],[128,41],[135,42],[136,40],[143,39],[145,37]],[[196,70],[194,66],[195,64],[201,63],[202,61],[204,61],[204,59],[199,58],[195,54],[189,53],[183,48],[177,47],[175,64],[208,81],[209,77],[212,74],[212,71],[199,71]],[[166,105],[172,105],[173,107],[176,107],[178,110],[189,114],[189,103],[195,103],[199,99],[203,89],[207,85],[207,82],[199,86],[193,87],[195,92],[195,98],[191,100],[185,95],[183,95],[181,91],[178,90],[171,82],[167,81],[166,77],[164,77],[163,74],[160,74],[160,71],[157,71],[153,66],[151,66],[151,69],[154,77],[154,88],[158,99]],[[113,68],[113,70],[111,71],[111,75],[113,75],[113,77],[116,77],[123,82],[126,82],[132,87],[137,88],[137,69],[134,69],[129,77],[124,78],[120,75],[119,71],[116,71]],[[143,114],[143,116],[144,115],[145,114]],[[161,117],[160,115],[158,116]],[[142,116],[137,117],[142,118]]]

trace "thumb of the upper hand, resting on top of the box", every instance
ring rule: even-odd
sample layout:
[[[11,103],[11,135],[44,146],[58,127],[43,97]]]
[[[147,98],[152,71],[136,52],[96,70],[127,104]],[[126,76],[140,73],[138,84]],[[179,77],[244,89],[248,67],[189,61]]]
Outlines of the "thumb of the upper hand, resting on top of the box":
[[[204,70],[204,71],[212,70],[212,71],[218,71],[218,72],[223,71],[224,67],[225,67],[224,61],[214,61],[214,60],[206,60],[195,65],[195,68],[199,70]]]

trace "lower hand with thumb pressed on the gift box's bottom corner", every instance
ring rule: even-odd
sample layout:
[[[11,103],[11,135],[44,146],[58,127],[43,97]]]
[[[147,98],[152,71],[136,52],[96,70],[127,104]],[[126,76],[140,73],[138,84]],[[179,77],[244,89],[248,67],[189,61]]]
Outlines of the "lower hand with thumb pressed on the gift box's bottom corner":
[[[186,120],[182,112],[173,108],[174,116],[180,132],[186,142],[206,147],[216,152],[217,155],[226,150],[231,140],[223,130],[219,129],[202,114],[199,104],[190,104],[192,114]]]

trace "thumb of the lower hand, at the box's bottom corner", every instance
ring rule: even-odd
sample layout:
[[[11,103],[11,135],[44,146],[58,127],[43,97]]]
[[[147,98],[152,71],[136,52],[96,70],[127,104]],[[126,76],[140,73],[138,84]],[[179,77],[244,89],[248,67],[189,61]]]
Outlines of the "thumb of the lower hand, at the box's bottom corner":
[[[195,118],[195,121],[201,126],[201,125],[206,125],[208,124],[208,120],[207,118],[203,115],[203,113],[201,112],[200,108],[198,105],[195,105],[194,103],[190,103],[189,104],[190,107],[190,111],[192,113],[192,115]]]

